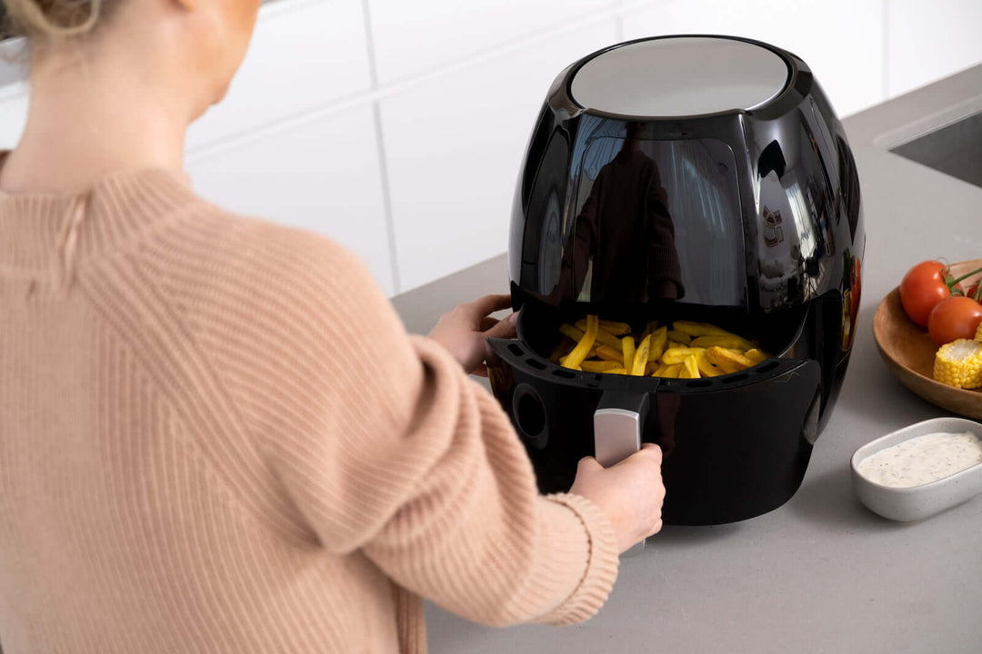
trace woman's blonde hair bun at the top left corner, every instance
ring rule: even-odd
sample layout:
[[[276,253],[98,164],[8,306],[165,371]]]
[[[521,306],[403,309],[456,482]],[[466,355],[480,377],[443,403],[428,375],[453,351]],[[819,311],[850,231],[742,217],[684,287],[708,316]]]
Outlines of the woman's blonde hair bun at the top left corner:
[[[89,33],[114,0],[3,0],[3,3],[15,34],[55,39]]]

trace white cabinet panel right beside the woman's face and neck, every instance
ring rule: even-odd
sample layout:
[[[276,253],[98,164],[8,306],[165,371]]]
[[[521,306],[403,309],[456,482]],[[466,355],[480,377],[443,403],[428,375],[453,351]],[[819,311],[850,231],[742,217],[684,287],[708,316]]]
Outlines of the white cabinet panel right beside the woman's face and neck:
[[[371,85],[360,0],[263,5],[225,100],[188,132],[191,149],[302,115]]]

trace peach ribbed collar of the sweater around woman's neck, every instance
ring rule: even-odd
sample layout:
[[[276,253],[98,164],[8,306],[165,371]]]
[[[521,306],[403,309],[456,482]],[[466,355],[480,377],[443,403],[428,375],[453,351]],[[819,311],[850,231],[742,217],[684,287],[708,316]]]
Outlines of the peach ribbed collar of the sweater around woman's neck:
[[[0,168],[8,152],[0,152]],[[146,228],[191,204],[183,172],[113,173],[82,193],[0,190],[0,270],[41,271],[120,247]]]

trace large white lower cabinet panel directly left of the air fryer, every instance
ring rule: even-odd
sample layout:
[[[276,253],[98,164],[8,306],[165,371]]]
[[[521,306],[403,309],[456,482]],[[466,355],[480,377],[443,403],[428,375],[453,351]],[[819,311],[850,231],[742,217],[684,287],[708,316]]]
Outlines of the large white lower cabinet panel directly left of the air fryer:
[[[603,20],[382,99],[403,290],[507,249],[518,171],[546,91],[616,38],[615,21]]]

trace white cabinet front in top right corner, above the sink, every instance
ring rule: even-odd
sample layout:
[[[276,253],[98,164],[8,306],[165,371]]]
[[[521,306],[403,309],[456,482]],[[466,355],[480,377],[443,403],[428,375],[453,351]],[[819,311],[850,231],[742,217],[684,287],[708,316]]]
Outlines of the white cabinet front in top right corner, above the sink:
[[[982,62],[980,0],[887,0],[891,96]]]

